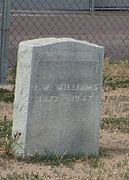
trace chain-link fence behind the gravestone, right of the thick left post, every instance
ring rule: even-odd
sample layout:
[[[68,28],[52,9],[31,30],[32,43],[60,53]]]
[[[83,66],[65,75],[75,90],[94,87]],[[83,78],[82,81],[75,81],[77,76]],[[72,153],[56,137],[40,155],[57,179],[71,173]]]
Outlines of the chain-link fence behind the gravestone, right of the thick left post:
[[[106,57],[129,56],[128,0],[12,0],[9,64],[20,41],[72,37],[105,46]]]

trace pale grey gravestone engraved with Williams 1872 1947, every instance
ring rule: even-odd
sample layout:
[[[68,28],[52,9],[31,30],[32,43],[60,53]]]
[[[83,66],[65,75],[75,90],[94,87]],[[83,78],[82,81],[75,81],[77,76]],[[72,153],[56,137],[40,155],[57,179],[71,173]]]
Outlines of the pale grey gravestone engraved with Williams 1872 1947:
[[[16,155],[98,153],[103,56],[103,47],[69,38],[20,43]]]

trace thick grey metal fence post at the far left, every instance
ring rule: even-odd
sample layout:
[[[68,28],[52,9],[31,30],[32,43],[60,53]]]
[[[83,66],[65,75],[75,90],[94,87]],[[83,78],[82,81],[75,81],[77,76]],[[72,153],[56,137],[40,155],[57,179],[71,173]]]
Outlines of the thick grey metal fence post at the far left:
[[[11,0],[3,0],[0,49],[0,84],[5,84],[7,79],[10,6]]]

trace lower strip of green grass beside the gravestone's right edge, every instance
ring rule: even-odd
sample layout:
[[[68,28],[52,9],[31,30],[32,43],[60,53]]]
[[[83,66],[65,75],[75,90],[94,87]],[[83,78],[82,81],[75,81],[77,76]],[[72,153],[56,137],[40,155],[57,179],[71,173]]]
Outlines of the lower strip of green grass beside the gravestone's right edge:
[[[101,121],[102,129],[118,129],[122,133],[129,133],[129,117],[104,118]]]

